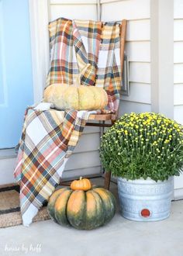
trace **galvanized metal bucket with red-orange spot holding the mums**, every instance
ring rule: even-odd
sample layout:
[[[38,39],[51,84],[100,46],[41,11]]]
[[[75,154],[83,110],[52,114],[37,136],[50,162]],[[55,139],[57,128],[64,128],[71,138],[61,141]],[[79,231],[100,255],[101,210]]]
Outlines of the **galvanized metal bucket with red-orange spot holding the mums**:
[[[170,215],[173,189],[173,177],[164,182],[118,178],[120,212],[129,220],[164,220]]]

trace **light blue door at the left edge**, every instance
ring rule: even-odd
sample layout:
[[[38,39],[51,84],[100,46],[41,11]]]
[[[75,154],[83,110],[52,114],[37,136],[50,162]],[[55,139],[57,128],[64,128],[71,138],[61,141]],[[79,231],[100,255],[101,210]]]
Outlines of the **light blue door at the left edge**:
[[[28,0],[0,0],[0,149],[15,147],[33,104]]]

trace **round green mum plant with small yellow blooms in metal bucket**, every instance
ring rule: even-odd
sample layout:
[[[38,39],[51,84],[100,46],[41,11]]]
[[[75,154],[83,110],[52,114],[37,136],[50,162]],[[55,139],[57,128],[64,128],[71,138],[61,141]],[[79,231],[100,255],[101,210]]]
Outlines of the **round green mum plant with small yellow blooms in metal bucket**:
[[[183,167],[183,126],[154,112],[125,114],[102,137],[100,157],[116,177],[164,181]]]

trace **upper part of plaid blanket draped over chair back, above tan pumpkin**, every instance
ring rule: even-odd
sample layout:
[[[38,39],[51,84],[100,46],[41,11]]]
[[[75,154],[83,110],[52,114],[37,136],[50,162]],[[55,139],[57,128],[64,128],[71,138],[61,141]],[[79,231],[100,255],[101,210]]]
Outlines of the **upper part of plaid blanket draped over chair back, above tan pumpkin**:
[[[109,110],[119,107],[120,29],[117,22],[57,19],[50,22],[50,71],[47,86],[73,85],[81,73],[81,85],[105,88]],[[86,68],[85,68],[86,67]]]

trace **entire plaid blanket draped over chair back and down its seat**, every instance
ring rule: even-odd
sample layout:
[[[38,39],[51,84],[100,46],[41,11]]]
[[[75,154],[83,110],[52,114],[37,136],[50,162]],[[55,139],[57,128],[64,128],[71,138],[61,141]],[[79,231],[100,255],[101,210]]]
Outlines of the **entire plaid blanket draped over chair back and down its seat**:
[[[119,104],[119,25],[116,23],[57,19],[50,28],[50,71],[47,86],[73,84],[104,87],[109,107]],[[87,65],[87,69],[83,69]],[[43,202],[60,182],[91,112],[26,110],[14,175],[20,184],[20,206],[25,226],[33,221]]]

